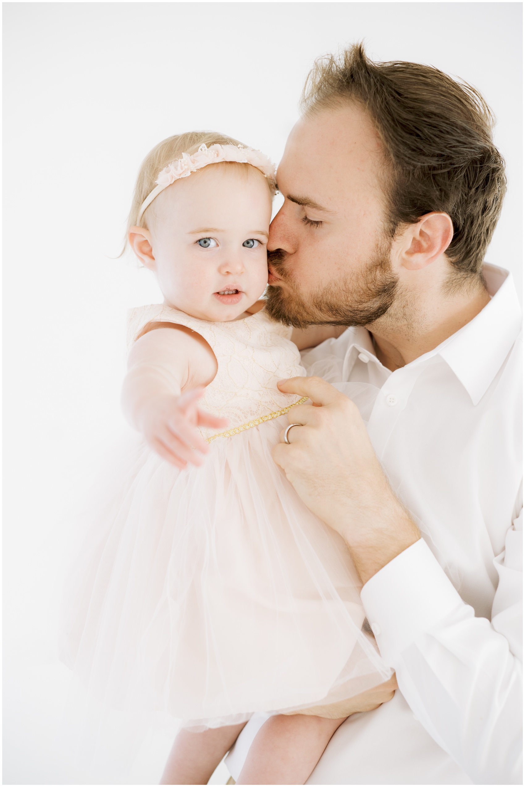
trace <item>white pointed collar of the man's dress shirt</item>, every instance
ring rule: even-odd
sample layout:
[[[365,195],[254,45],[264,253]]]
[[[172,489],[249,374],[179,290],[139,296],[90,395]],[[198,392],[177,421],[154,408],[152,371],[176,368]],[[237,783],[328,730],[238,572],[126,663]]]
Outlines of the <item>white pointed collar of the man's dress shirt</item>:
[[[521,330],[521,309],[512,273],[486,264],[483,275],[491,296],[485,308],[430,353],[404,367],[419,365],[439,355],[467,390],[473,405],[478,404],[494,380]],[[366,328],[351,327],[348,330],[353,337],[346,353],[346,375],[352,371],[360,352],[366,353],[370,360],[383,368],[375,356],[372,337]]]

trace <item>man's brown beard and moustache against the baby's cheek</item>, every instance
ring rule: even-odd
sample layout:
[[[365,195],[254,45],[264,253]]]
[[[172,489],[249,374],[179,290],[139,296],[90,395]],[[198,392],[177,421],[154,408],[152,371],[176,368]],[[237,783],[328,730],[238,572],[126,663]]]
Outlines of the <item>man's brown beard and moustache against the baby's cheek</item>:
[[[360,273],[324,286],[308,298],[287,273],[286,252],[268,252],[268,263],[283,282],[268,286],[266,310],[273,320],[306,328],[309,325],[370,325],[394,303],[399,279],[390,264],[390,245],[378,246],[375,256]]]

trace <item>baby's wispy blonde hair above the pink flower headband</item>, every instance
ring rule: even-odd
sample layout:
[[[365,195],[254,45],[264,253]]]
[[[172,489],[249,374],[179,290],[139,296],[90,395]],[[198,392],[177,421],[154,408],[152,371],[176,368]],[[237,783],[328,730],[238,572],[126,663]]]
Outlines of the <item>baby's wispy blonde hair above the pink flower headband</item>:
[[[131,227],[144,227],[144,229],[148,229],[146,223],[147,208],[142,214],[141,219],[139,221],[137,221],[137,219],[139,217],[142,202],[146,199],[148,194],[151,194],[157,185],[155,181],[159,176],[159,172],[167,167],[168,164],[171,164],[172,161],[181,158],[183,153],[188,153],[190,156],[197,153],[199,147],[203,144],[207,147],[211,145],[242,145],[246,147],[242,142],[238,142],[238,139],[233,139],[233,137],[229,137],[227,134],[220,134],[218,131],[187,131],[186,134],[176,134],[159,142],[158,145],[150,150],[150,153],[147,154],[140,165],[139,175],[135,183],[135,191],[133,192],[133,200],[131,201],[131,210],[128,216],[128,226],[126,227],[126,237],[124,238],[124,249],[122,253],[124,253],[128,245],[128,233]],[[249,166],[249,164],[242,164],[241,166]]]

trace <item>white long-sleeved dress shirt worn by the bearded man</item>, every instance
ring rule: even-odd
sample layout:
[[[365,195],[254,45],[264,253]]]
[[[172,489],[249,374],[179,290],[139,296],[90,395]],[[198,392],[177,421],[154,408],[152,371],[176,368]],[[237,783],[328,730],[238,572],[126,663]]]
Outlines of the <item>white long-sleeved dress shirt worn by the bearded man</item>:
[[[339,727],[309,784],[521,783],[521,312],[512,276],[484,272],[482,312],[401,369],[364,328],[304,355],[338,359],[341,390],[377,389],[368,434],[423,536],[361,592],[399,691]]]

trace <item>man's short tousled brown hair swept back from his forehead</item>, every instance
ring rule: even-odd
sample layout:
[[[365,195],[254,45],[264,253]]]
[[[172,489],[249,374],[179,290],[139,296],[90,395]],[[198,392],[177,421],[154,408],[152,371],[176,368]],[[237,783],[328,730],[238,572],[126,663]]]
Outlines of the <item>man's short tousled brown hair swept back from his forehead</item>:
[[[480,276],[506,179],[492,139],[494,116],[479,92],[429,65],[375,63],[359,43],[316,61],[301,110],[345,99],[363,105],[383,141],[391,235],[425,213],[446,212],[454,227],[446,250],[453,279]]]

